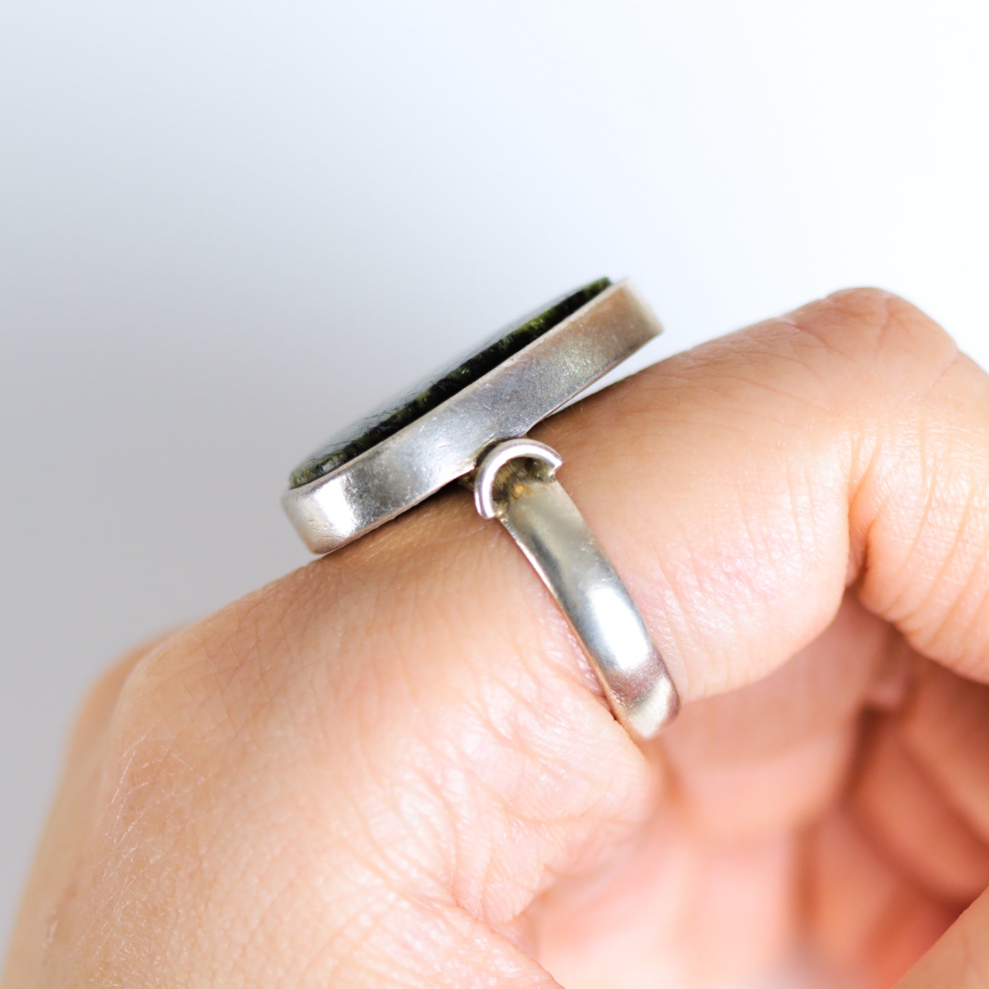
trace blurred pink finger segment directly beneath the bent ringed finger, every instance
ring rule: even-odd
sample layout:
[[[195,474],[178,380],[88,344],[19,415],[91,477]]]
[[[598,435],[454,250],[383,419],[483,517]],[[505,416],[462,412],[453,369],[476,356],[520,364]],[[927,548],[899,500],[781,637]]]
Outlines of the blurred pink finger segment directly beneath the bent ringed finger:
[[[815,820],[845,786],[858,715],[888,689],[893,646],[889,626],[849,595],[825,633],[772,674],[684,707],[655,745],[693,830],[737,842]]]

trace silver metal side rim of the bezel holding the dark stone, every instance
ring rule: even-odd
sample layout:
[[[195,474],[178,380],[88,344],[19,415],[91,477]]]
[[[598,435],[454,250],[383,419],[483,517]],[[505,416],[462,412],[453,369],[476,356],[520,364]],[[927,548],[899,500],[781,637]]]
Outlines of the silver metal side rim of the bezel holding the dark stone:
[[[628,282],[336,471],[287,492],[314,553],[329,553],[470,473],[494,442],[523,436],[661,331]]]

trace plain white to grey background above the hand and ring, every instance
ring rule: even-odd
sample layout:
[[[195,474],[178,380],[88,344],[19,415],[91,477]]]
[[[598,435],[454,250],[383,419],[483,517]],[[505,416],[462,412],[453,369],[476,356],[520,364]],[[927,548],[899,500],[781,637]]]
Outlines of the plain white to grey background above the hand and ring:
[[[324,434],[599,274],[645,360],[878,284],[989,363],[976,0],[0,5],[0,928],[70,711],[305,562]]]

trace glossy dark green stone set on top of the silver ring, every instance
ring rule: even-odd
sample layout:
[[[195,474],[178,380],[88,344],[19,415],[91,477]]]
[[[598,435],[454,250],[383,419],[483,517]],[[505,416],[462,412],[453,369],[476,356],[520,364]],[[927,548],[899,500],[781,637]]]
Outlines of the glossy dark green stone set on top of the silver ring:
[[[576,313],[610,284],[610,279],[599,278],[596,282],[584,285],[536,312],[523,316],[466,356],[434,372],[403,395],[335,433],[292,472],[289,486],[301,488],[377,446],[382,440],[493,371],[512,354],[518,353],[524,346],[563,322],[567,316]]]

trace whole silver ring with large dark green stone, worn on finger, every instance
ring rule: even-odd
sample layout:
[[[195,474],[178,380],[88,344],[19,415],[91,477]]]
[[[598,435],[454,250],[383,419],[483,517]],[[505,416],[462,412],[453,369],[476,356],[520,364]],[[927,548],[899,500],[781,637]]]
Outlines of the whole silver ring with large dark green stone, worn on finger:
[[[560,455],[525,434],[661,331],[630,282],[591,282],[334,434],[292,473],[285,510],[314,553],[331,553],[452,482],[473,489],[553,594],[615,718],[653,738],[678,710],[674,682],[556,480]]]

